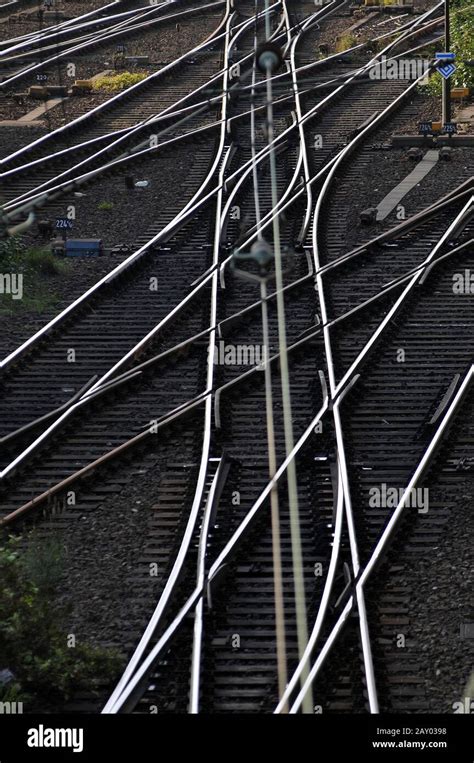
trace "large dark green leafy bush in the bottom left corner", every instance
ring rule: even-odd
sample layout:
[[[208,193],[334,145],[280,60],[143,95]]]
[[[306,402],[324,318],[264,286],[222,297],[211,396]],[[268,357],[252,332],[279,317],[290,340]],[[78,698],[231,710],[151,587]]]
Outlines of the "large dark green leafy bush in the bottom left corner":
[[[26,703],[26,711],[44,711],[80,689],[94,691],[116,677],[116,652],[87,643],[68,645],[65,610],[52,602],[63,569],[57,541],[41,545],[31,537],[20,553],[21,539],[0,544],[0,670],[14,679],[0,686],[0,701]]]

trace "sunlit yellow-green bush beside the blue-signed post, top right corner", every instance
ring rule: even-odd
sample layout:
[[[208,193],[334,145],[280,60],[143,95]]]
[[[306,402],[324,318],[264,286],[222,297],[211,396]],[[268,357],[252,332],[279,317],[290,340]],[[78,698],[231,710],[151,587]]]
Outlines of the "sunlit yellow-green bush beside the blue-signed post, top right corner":
[[[474,88],[474,67],[463,61],[474,59],[474,5],[471,0],[451,0],[451,51],[456,53],[456,71],[451,76],[451,87]],[[442,45],[438,50],[443,50]],[[441,94],[443,78],[436,72],[426,85],[429,93]]]

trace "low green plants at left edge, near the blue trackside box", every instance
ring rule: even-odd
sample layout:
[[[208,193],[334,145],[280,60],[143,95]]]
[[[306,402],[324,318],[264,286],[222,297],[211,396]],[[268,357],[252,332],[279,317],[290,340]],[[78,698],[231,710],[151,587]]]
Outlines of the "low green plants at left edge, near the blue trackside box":
[[[58,294],[48,285],[48,278],[69,273],[69,262],[53,255],[48,249],[27,247],[21,237],[13,236],[0,243],[0,273],[2,281],[15,274],[21,276],[21,296],[13,298],[0,284],[0,315],[17,315],[34,312],[40,315],[54,308],[59,302]]]

